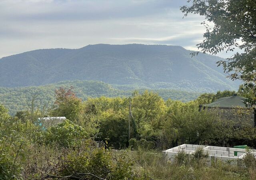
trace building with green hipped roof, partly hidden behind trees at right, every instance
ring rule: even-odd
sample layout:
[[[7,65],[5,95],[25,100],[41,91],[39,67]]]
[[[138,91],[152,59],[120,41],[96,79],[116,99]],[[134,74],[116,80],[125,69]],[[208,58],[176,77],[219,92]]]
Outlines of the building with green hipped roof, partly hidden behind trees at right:
[[[244,122],[244,124],[248,123],[255,127],[256,113],[250,106],[246,106],[246,99],[247,98],[234,94],[233,96],[219,98],[210,104],[199,105],[199,111],[206,108],[208,110],[218,109],[218,112],[220,112],[224,118],[239,120],[239,122]]]

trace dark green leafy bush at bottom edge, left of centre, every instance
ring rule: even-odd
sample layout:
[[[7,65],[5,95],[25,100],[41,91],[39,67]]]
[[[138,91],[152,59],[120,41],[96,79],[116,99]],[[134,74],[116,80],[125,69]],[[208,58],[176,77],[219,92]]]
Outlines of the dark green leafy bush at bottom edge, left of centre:
[[[79,152],[72,151],[63,159],[60,174],[74,174],[81,179],[134,179],[132,163],[126,160],[125,154],[88,146]]]

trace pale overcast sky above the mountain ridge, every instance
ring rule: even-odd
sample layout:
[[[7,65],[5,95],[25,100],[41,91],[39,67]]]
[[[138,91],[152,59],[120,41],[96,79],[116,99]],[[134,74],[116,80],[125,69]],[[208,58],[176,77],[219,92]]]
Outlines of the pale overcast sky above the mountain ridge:
[[[0,58],[99,43],[196,50],[203,40],[204,18],[183,19],[179,8],[186,4],[186,0],[0,0]]]

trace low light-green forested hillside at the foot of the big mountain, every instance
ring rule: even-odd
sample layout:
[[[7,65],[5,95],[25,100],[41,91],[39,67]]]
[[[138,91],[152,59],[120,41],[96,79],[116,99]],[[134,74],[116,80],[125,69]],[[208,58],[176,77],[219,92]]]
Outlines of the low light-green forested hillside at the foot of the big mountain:
[[[59,87],[74,87],[74,92],[82,100],[88,97],[100,96],[131,96],[134,89],[143,92],[145,88],[141,86],[114,86],[100,81],[64,81],[45,86],[30,86],[17,88],[1,88],[0,87],[0,104],[9,109],[10,114],[15,114],[18,110],[24,110],[30,106],[33,96],[36,96],[35,105],[38,107],[50,107],[53,105],[55,97],[54,90]],[[136,88],[134,88],[136,87]],[[171,98],[173,100],[181,100],[183,102],[194,100],[199,96],[196,92],[186,92],[169,89],[154,90],[165,100]]]

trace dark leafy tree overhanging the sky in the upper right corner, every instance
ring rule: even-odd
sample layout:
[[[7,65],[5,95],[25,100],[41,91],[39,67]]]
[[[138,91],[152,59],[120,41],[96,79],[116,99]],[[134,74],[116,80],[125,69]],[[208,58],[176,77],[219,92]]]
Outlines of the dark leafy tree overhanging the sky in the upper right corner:
[[[221,60],[224,72],[231,79],[240,79],[245,86],[256,94],[256,1],[255,0],[188,0],[192,6],[182,6],[180,9],[187,16],[189,13],[205,16],[214,24],[213,28],[207,22],[204,40],[197,44],[203,53],[242,50],[227,60]],[[198,54],[194,53],[193,55]],[[255,104],[256,99],[249,103]]]

